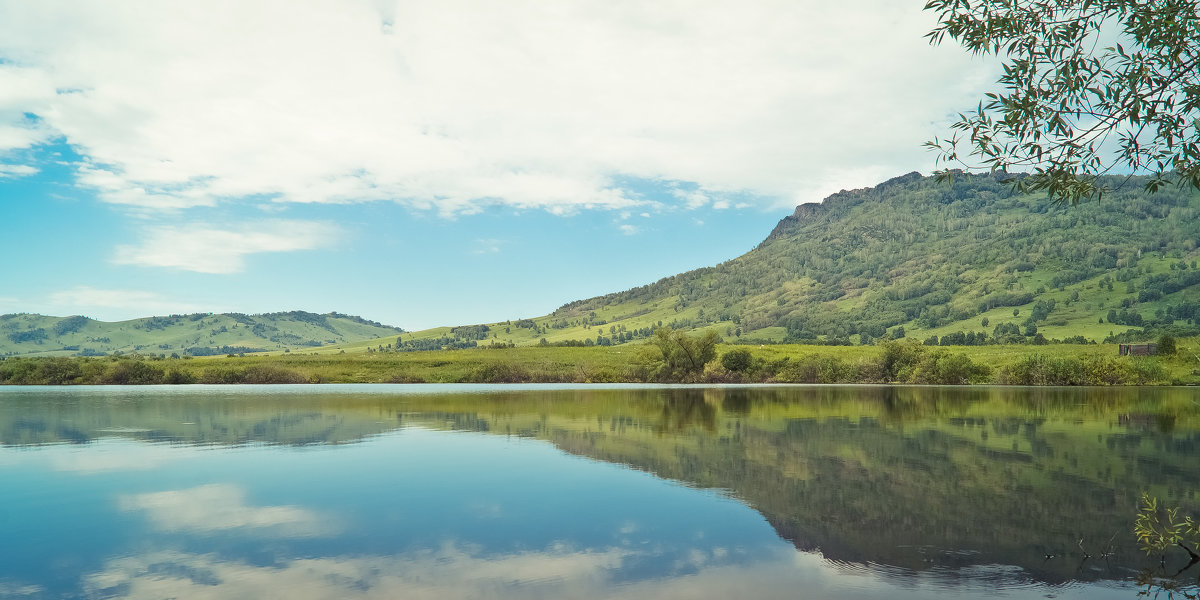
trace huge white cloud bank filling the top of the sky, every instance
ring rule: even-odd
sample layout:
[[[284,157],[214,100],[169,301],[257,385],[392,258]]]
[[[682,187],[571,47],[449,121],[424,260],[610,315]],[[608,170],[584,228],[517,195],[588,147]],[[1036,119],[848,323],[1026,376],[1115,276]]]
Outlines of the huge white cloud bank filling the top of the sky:
[[[928,167],[992,79],[928,47],[919,7],[10,1],[0,150],[61,136],[82,185],[139,208],[570,212],[640,204],[626,178],[796,204]]]

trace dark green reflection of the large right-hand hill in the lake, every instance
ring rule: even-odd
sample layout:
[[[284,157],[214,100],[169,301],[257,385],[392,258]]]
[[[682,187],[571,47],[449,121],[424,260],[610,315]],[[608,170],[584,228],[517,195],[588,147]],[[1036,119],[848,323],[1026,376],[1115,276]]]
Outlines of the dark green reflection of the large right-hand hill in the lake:
[[[640,400],[650,414],[628,406],[619,428],[546,437],[730,490],[798,547],[830,558],[914,570],[1014,564],[1045,581],[1132,577],[1144,563],[1129,534],[1139,491],[1200,487],[1193,431],[1118,422],[1172,397],[1142,391],[734,388],[704,390],[701,402],[696,390],[660,390]]]

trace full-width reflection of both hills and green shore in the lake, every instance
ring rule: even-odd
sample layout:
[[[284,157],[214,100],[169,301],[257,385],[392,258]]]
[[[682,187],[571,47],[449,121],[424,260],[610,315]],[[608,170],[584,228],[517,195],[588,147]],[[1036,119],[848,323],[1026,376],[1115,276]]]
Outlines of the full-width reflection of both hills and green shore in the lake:
[[[319,390],[318,390],[319,391]],[[128,392],[134,394],[134,392]],[[335,444],[406,425],[546,439],[728,490],[797,547],[904,574],[1123,577],[1142,490],[1196,505],[1192,390],[769,388],[491,394],[64,392],[0,402],[0,443]],[[1109,560],[1081,562],[1084,548]],[[1055,558],[1046,559],[1046,554]]]

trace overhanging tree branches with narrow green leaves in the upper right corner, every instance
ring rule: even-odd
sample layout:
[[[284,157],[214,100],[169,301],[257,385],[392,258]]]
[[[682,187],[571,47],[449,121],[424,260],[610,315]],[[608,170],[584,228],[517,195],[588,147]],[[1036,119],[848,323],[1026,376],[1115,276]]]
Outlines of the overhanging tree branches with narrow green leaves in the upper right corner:
[[[1105,173],[1151,173],[1148,191],[1200,188],[1200,0],[929,0],[925,10],[938,13],[930,43],[949,37],[1004,60],[1002,90],[925,144],[940,164],[1027,169],[1018,190],[1072,204],[1099,199]]]

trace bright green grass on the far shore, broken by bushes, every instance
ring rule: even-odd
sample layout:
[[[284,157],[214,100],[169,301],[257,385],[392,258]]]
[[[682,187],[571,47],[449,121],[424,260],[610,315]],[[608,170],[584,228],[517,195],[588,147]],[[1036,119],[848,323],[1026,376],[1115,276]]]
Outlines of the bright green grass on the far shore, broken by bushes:
[[[910,342],[912,343],[912,342]],[[1049,346],[973,346],[920,347],[926,355],[935,350],[966,356],[977,365],[990,367],[994,383],[1006,370],[1034,359],[1064,359],[1076,362],[1106,361],[1133,372],[1158,373],[1147,383],[1200,384],[1200,343],[1196,338],[1178,343],[1176,356],[1117,358],[1115,344]],[[365,348],[365,347],[364,347]],[[720,355],[748,349],[757,374],[733,376],[732,380],[772,380],[786,365],[833,361],[864,367],[862,373],[877,373],[870,366],[880,364],[882,350],[875,346],[803,346],[768,344],[762,347],[718,347],[718,359],[709,372],[697,380],[731,380],[719,368]],[[350,348],[353,350],[353,348]],[[196,359],[160,358],[8,358],[0,361],[0,383],[605,383],[643,382],[646,362],[642,344],[612,347],[516,347],[504,349],[473,348],[410,353],[367,353],[365,350],[329,354],[312,353],[258,354]],[[1136,368],[1135,368],[1136,367]],[[1122,372],[1124,372],[1122,371]],[[874,377],[874,376],[859,376]],[[866,379],[868,382],[875,379]]]

